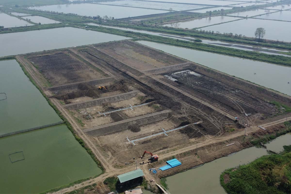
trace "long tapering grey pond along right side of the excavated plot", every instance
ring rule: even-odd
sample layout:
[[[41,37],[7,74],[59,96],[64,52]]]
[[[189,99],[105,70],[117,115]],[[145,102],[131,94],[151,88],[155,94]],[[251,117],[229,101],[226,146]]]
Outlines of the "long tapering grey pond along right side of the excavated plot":
[[[220,72],[291,95],[291,84],[288,84],[288,81],[290,82],[291,67],[214,54],[206,51],[175,47],[155,42],[137,42],[195,63],[199,63]]]

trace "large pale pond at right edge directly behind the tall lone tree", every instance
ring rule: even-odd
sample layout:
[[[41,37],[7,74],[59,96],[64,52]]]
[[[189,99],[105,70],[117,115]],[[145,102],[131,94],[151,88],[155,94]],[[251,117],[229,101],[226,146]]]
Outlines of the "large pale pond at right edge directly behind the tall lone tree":
[[[208,26],[202,30],[214,30],[219,31],[220,33],[231,32],[233,34],[237,33],[248,37],[254,37],[255,30],[258,26],[266,30],[266,35],[264,36],[265,39],[291,42],[289,33],[291,30],[290,22],[249,18],[215,26]],[[280,34],[278,34],[278,32],[280,32]]]

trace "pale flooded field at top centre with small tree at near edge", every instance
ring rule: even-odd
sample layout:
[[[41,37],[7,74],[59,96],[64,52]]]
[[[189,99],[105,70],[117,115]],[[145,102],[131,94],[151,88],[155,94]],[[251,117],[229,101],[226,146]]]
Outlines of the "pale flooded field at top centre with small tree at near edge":
[[[105,2],[100,2],[100,3],[111,4],[111,5],[121,5],[121,6],[141,7],[141,8],[164,9],[164,10],[169,10],[170,8],[172,8],[173,10],[176,10],[176,11],[207,7],[207,6],[187,5],[187,4],[178,4],[178,3],[159,3],[159,2],[132,1],[132,0],[105,1]]]

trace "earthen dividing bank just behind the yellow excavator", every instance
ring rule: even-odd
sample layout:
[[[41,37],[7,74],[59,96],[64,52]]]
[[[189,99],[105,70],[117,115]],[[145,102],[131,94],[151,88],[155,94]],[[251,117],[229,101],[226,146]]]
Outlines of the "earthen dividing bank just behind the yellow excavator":
[[[115,80],[114,77],[107,77],[107,78],[102,78],[102,79],[95,79],[95,80],[90,80],[90,81],[79,81],[79,82],[64,84],[60,86],[53,86],[47,89],[49,89],[52,92],[59,91],[59,90],[73,90],[73,89],[77,89],[80,83],[87,83],[89,85],[94,86],[97,84],[104,85],[104,83],[110,83],[110,82],[113,82],[114,80]]]

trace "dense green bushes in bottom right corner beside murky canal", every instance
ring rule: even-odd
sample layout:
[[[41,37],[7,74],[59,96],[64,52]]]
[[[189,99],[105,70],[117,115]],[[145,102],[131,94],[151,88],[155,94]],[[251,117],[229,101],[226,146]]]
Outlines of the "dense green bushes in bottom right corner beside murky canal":
[[[291,145],[280,154],[262,156],[220,176],[227,193],[290,193]]]

